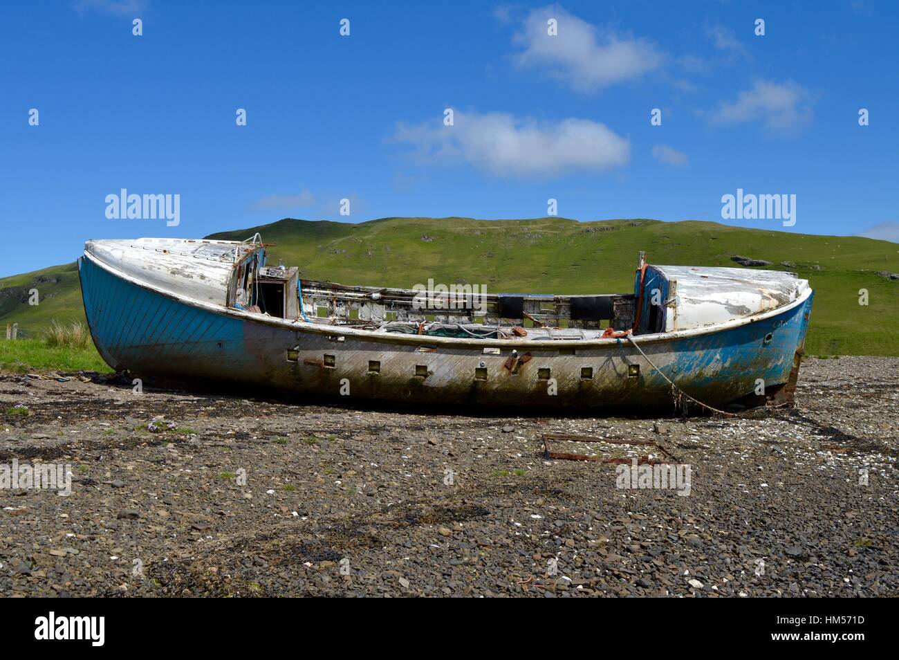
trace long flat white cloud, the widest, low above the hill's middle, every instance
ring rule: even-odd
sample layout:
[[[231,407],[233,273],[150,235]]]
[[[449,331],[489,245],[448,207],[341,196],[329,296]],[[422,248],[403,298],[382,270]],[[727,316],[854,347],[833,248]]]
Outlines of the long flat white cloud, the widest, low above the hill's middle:
[[[441,120],[398,124],[396,141],[414,147],[423,164],[467,163],[498,176],[556,175],[628,163],[630,141],[591,120],[537,121],[511,114],[455,111]]]

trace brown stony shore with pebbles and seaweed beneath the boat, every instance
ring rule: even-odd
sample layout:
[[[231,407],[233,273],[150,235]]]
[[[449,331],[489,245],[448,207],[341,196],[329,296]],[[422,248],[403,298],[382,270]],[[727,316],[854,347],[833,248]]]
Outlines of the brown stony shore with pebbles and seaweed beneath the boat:
[[[899,359],[812,359],[795,408],[681,421],[3,375],[0,470],[72,485],[0,489],[0,595],[895,596],[897,385]],[[689,465],[689,494],[546,433]]]

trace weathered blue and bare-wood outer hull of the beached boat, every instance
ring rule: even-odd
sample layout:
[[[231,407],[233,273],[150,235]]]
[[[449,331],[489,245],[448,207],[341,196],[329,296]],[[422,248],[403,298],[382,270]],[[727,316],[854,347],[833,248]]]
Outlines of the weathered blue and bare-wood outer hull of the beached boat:
[[[671,412],[672,387],[660,371],[709,406],[751,396],[760,383],[768,394],[788,387],[813,298],[708,333],[637,337],[639,350],[626,338],[481,346],[236,316],[129,281],[86,257],[79,272],[93,341],[116,370],[315,396],[583,411]]]

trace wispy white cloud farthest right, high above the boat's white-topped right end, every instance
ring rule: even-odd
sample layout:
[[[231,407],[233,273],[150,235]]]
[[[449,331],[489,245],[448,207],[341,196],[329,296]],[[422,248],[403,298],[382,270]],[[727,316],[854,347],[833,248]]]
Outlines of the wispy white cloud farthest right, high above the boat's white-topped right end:
[[[788,129],[811,120],[811,100],[811,94],[795,83],[757,80],[752,89],[737,94],[732,103],[719,103],[708,116],[720,124],[761,121],[770,129]]]

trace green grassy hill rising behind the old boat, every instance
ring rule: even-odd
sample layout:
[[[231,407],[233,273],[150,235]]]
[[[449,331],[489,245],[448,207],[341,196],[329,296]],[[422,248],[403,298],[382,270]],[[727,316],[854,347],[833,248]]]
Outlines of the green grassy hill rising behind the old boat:
[[[610,293],[633,290],[636,254],[650,263],[731,266],[735,254],[798,272],[815,290],[806,343],[814,355],[899,355],[899,245],[859,236],[812,236],[714,222],[564,218],[476,220],[387,218],[358,225],[283,219],[209,237],[260,232],[270,263],[301,277],[412,287],[428,278],[485,284],[492,293]],[[787,265],[785,265],[785,263]],[[43,278],[44,281],[39,281]],[[37,284],[35,284],[37,282]],[[37,286],[40,306],[27,305]],[[869,304],[859,305],[859,290]],[[0,323],[28,330],[84,317],[74,264],[0,280]]]

